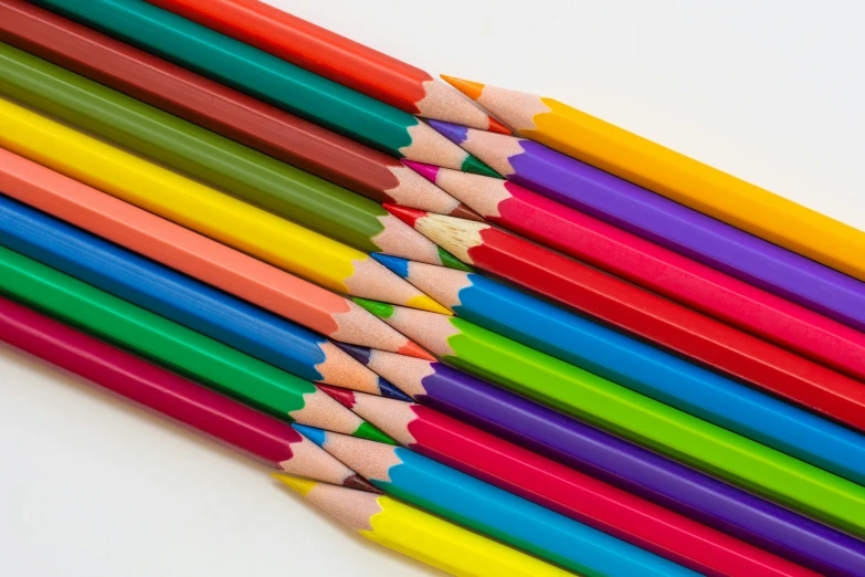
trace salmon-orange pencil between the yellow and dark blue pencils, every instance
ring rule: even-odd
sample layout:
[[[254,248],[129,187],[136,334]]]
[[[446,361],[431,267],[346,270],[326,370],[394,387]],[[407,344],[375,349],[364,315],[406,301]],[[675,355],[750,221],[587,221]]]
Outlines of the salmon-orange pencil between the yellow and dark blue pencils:
[[[432,359],[344,296],[3,148],[0,191],[336,340]]]

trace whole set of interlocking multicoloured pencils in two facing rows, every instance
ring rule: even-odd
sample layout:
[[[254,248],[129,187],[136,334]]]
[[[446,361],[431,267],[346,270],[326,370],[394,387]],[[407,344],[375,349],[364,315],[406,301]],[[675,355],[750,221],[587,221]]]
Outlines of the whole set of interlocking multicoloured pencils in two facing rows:
[[[865,233],[444,80],[0,0],[0,340],[453,575],[865,577]]]

